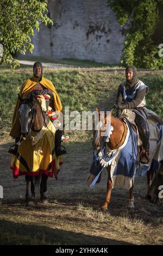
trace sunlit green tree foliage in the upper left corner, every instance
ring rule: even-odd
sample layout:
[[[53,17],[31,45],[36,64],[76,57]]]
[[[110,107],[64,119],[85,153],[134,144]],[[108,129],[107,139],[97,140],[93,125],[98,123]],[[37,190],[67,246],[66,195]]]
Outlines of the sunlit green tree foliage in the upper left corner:
[[[18,66],[14,53],[33,52],[31,36],[39,23],[52,25],[47,16],[47,0],[0,0],[0,44],[3,45],[1,64]]]

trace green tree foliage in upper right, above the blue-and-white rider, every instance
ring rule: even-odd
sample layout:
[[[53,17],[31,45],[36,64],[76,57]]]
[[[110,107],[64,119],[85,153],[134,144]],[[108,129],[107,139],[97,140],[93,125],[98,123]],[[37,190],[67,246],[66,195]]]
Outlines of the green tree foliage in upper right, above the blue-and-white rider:
[[[158,54],[163,33],[158,41],[154,40],[163,0],[108,0],[108,3],[120,25],[127,27],[122,63],[139,68],[163,68],[163,57]]]

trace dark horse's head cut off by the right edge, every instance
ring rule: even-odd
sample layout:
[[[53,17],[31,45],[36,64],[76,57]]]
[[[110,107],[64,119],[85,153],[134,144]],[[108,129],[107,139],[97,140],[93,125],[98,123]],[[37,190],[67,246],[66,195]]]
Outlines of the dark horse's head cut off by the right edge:
[[[161,186],[161,187],[160,187]],[[160,187],[160,190],[159,190]],[[160,162],[159,170],[156,173],[151,186],[147,192],[147,198],[151,203],[161,202],[163,198],[163,161]],[[162,191],[161,191],[162,190]]]

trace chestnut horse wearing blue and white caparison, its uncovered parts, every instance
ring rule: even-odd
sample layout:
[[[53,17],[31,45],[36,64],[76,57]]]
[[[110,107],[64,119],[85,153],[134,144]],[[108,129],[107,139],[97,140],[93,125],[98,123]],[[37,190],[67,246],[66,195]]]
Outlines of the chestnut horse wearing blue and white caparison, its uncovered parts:
[[[97,108],[96,108],[96,111],[98,111]],[[102,144],[103,144],[103,136],[101,134],[107,131],[106,114],[103,113],[103,115],[102,114],[99,115],[99,118],[101,118],[101,120],[104,120],[104,126],[102,129],[101,129],[101,127],[99,127],[97,130],[93,131],[92,145],[93,145],[94,150],[101,150]],[[121,147],[121,145],[123,145],[123,143],[126,139],[127,125],[121,119],[119,119],[117,117],[113,117],[111,115],[111,126],[113,127],[113,130],[110,135],[109,142],[106,142],[106,144],[108,145],[108,147],[111,150],[119,149]],[[132,127],[131,129],[134,129],[134,127]],[[110,204],[110,199],[111,199],[111,190],[112,190],[112,186],[113,186],[112,180],[111,180],[111,173],[110,173],[111,165],[108,164],[106,169],[108,172],[107,192],[106,192],[106,197],[105,197],[105,203],[102,206],[102,210],[108,210],[108,205]],[[96,175],[97,175],[97,173],[96,173]],[[93,175],[90,172],[89,178],[87,179],[87,185],[90,185],[93,179],[95,179],[95,175]],[[148,182],[148,187],[149,187],[149,185],[152,182],[151,170],[148,171],[147,182]],[[134,184],[132,181],[132,185],[130,186],[130,189],[129,189],[129,209],[134,209],[133,187],[134,187]]]

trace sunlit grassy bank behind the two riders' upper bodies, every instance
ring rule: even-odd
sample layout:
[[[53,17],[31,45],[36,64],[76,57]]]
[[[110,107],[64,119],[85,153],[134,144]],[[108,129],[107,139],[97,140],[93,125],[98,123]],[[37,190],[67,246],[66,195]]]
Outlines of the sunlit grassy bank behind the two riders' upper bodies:
[[[2,67],[3,69],[3,67]],[[44,69],[44,75],[51,80],[60,95],[61,102],[70,111],[93,111],[97,107],[111,109],[115,103],[118,84],[124,80],[123,69]],[[12,113],[17,94],[24,81],[32,76],[32,69],[8,70],[0,74],[0,123],[1,136],[10,130]],[[147,107],[161,115],[162,71],[139,71],[138,76],[149,86]]]

